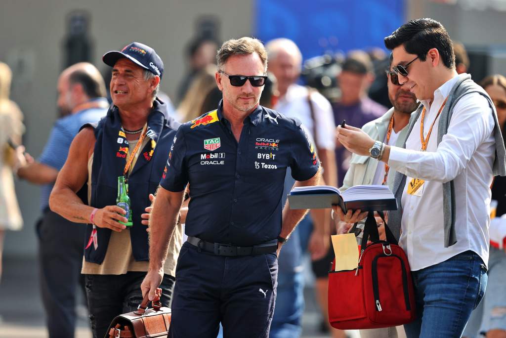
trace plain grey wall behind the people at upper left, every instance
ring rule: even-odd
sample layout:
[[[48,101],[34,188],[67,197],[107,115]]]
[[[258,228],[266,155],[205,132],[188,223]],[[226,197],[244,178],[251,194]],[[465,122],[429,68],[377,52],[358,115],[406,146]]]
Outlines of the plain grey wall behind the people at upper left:
[[[25,114],[24,143],[40,154],[56,116],[56,82],[63,68],[62,43],[66,16],[76,9],[91,14],[94,62],[99,69],[103,53],[140,41],[156,49],[165,64],[161,89],[171,97],[185,73],[183,51],[195,32],[195,19],[214,15],[221,20],[220,37],[250,35],[250,0],[1,0],[0,60],[17,69],[12,99]],[[5,255],[34,255],[33,224],[39,216],[39,189],[17,182],[25,227],[7,233]]]

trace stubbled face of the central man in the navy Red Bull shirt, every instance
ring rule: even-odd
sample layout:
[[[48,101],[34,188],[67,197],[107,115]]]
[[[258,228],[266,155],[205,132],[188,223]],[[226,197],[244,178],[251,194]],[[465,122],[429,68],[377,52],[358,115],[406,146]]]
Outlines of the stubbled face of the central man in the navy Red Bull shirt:
[[[265,75],[265,67],[257,53],[248,55],[233,55],[227,59],[223,71],[230,75],[262,76]],[[234,87],[226,74],[216,73],[218,88],[223,92],[223,105],[238,111],[250,112],[255,109],[260,101],[264,90],[262,87],[253,87],[249,80],[241,87]]]

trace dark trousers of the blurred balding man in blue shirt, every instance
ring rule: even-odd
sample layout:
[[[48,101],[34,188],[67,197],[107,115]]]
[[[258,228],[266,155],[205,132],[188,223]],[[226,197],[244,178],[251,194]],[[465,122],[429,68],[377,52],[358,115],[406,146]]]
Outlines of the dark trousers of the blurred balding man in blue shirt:
[[[40,290],[50,338],[74,336],[76,299],[78,292],[84,291],[81,264],[85,228],[49,209],[36,225]]]

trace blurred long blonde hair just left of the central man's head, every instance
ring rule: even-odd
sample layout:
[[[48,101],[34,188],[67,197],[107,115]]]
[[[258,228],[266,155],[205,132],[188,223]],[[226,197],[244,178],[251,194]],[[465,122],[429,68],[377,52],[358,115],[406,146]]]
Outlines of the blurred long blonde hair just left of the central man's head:
[[[216,87],[215,73],[216,65],[208,65],[191,82],[188,92],[178,107],[182,122],[193,120],[205,113],[202,111],[202,106],[207,94]]]

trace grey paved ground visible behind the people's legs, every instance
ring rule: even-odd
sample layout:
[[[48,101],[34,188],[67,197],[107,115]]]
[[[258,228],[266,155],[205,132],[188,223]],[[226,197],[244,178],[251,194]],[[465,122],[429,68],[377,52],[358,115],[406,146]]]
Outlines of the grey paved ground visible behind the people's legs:
[[[320,316],[316,310],[312,289],[306,289],[306,312],[303,317],[303,336],[323,338],[329,335],[318,331]],[[80,319],[76,338],[91,338],[85,309],[78,309]],[[350,332],[358,337],[355,332]],[[0,338],[45,338],[44,310],[38,291],[38,272],[35,258],[4,257],[4,275],[0,283]]]

